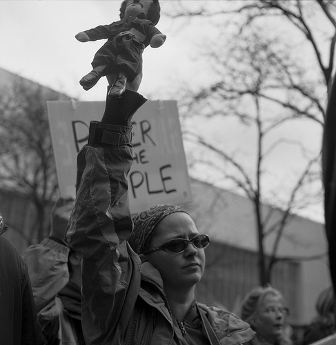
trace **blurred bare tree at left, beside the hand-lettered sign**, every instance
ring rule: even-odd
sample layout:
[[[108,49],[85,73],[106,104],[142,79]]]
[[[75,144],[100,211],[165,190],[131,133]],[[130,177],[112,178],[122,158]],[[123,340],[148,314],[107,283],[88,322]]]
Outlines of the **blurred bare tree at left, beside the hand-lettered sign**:
[[[47,100],[57,99],[68,97],[21,77],[0,92],[0,184],[30,199],[39,240],[58,193],[46,108]]]

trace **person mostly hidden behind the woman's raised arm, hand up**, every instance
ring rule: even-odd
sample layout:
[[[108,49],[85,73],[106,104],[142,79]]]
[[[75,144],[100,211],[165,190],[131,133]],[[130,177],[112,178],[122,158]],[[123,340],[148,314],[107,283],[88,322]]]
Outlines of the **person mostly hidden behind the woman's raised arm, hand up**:
[[[23,253],[49,345],[85,344],[81,328],[81,255],[64,242],[73,204],[73,199],[60,197],[52,209],[49,237]]]

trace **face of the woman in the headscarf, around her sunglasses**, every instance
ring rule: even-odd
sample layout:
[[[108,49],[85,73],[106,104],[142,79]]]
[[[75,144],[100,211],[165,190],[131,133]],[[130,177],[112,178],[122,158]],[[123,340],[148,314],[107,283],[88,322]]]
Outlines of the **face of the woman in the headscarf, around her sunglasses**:
[[[176,212],[162,219],[154,230],[150,248],[161,246],[170,239],[192,239],[199,235],[192,218],[183,212]],[[163,250],[146,255],[161,274],[164,288],[181,290],[195,286],[204,273],[206,258],[204,249],[195,248],[191,243],[182,253],[166,253]]]

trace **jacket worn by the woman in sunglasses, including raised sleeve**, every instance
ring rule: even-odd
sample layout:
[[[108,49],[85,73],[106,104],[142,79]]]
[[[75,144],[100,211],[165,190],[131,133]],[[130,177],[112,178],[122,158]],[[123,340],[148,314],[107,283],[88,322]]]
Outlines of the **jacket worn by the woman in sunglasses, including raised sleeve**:
[[[77,196],[67,233],[68,244],[83,255],[86,341],[90,345],[186,344],[173,322],[159,271],[148,262],[141,264],[126,240],[132,232],[127,192],[131,128],[104,126],[117,146],[87,145],[79,152]],[[255,334],[232,313],[201,304],[199,308],[223,345],[242,344]]]

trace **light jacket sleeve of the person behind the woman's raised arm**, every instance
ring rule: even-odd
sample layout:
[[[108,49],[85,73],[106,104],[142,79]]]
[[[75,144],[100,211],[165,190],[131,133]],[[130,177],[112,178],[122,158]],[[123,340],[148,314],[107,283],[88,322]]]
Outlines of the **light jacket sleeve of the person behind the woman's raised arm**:
[[[47,304],[55,304],[57,293],[68,284],[69,250],[68,246],[47,238],[23,253],[38,312]]]

